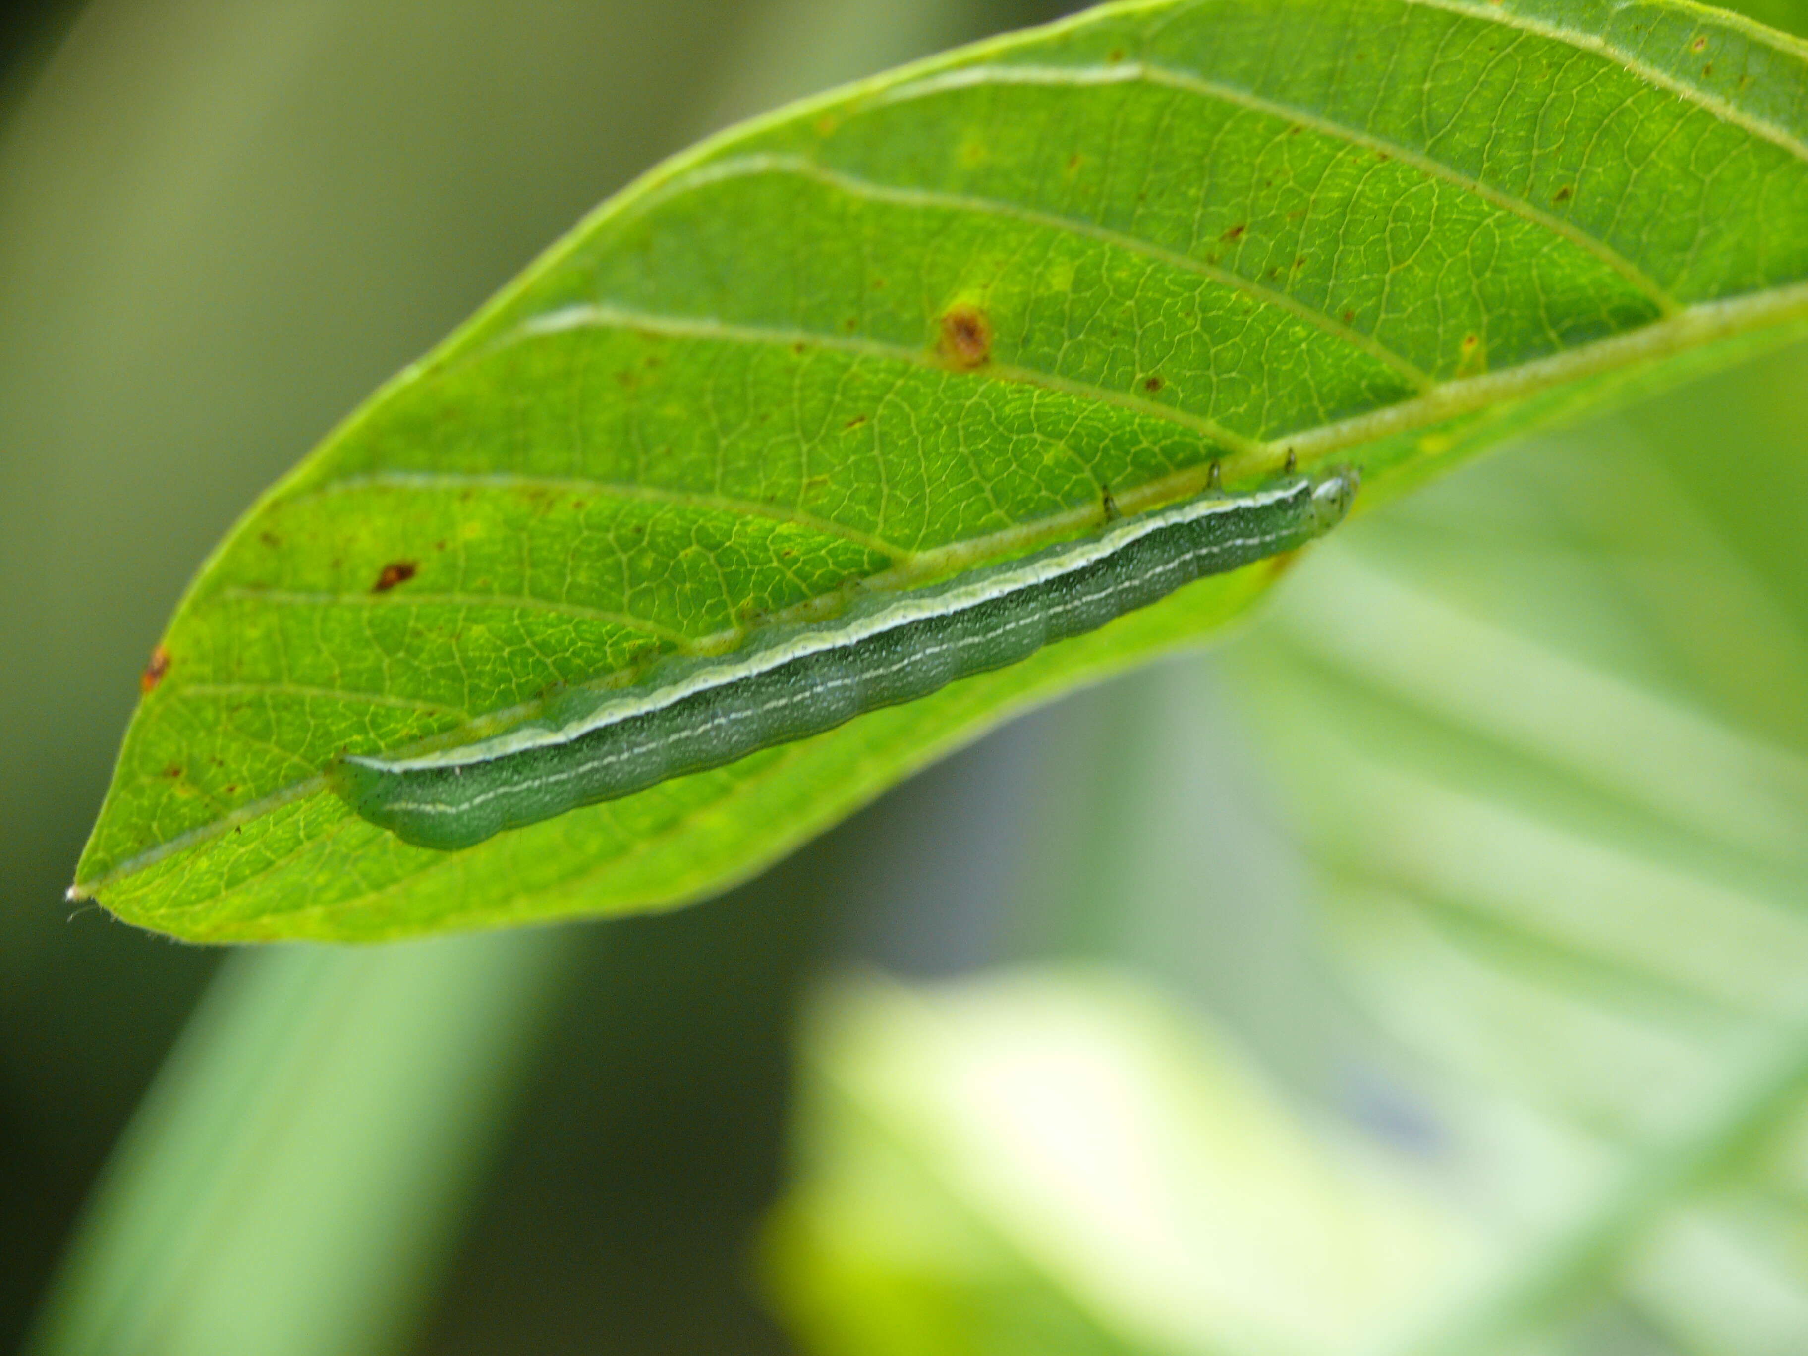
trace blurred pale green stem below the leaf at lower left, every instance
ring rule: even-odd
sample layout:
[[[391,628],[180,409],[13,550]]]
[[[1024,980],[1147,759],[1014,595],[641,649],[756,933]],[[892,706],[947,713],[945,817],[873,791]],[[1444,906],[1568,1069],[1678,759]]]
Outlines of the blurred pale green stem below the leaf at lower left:
[[[228,960],[114,1152],[27,1351],[405,1342],[575,940]]]

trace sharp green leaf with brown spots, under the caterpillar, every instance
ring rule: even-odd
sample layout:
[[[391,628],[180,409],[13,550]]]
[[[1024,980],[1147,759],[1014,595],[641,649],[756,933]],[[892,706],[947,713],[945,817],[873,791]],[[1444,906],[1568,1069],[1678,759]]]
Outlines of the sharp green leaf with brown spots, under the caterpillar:
[[[1486,441],[1808,324],[1808,49],[1683,4],[1128,4],[656,168],[353,416],[165,640],[76,891],[192,938],[694,899],[1273,568],[439,855],[322,785],[1204,485]],[[942,318],[976,307],[987,351]]]

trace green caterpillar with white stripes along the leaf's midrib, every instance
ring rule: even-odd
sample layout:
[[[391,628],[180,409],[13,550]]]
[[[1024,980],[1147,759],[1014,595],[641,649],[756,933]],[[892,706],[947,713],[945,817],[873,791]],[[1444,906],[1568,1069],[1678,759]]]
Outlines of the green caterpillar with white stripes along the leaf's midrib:
[[[1356,485],[1345,468],[1208,492],[944,584],[864,595],[830,620],[770,626],[730,654],[669,660],[629,689],[575,689],[474,743],[340,758],[327,777],[403,841],[468,848],[1016,664],[1195,579],[1305,544],[1343,519]]]

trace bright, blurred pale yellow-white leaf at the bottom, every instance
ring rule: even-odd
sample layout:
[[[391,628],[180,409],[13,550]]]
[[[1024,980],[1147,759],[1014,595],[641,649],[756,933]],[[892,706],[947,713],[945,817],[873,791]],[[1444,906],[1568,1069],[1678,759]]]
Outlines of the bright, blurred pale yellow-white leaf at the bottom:
[[[1354,1351],[1463,1226],[1108,973],[852,985],[768,1262],[815,1351]]]

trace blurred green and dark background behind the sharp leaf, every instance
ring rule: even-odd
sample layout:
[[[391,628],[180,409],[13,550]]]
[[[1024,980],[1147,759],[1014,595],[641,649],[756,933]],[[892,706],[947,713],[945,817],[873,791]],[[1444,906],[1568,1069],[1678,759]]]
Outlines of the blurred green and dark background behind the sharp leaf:
[[[1719,1105],[1689,1081],[1703,1063],[1689,1041],[1718,1050],[1745,1032],[1747,998],[1775,1016],[1770,991],[1808,987],[1799,920],[1763,911],[1808,897],[1803,351],[1506,450],[1360,523],[1222,658],[1000,730],[702,908],[224,956],[61,902],[179,589],[333,419],[662,154],[1058,9],[9,13],[0,1349],[38,1322],[40,1351],[785,1351],[763,1291],[796,1332],[844,1351],[1237,1352],[1278,1349],[1269,1311],[1369,1322],[1282,1262],[1267,1276],[1282,1298],[1249,1280],[1217,1304],[1157,1257],[1150,1273],[1193,1300],[1193,1327],[1163,1327],[1161,1295],[1106,1284],[1117,1235],[1083,1193],[1011,1213],[962,1186],[960,1163],[991,1173],[1023,1128],[958,1157],[922,1108],[946,1094],[949,1123],[973,1125],[984,1108],[937,1085],[951,1056],[924,1052],[951,1032],[971,1041],[949,1049],[985,1052],[1020,1027],[1078,1041],[1101,1012],[1125,1049],[1168,1050],[1166,1018],[1135,1016],[1150,1003],[1215,1032],[1204,1052],[1150,1056],[1173,1065],[1157,1085],[1215,1090],[1195,1099],[1222,1112],[1206,1121],[1242,1117],[1264,1144],[1293,1117],[1334,1125],[1437,1201],[1389,1195],[1363,1215],[1412,1240],[1381,1249],[1398,1266],[1365,1282],[1370,1309],[1423,1291],[1434,1264],[1510,1253],[1519,1217],[1575,1197],[1602,1155],[1629,1144],[1638,1163],[1662,1119],[1651,1087]],[[1750,13],[1801,31],[1786,0]],[[1522,926],[1539,908],[1598,928]],[[1732,920],[1718,951],[1703,918]],[[991,998],[978,982],[976,998],[924,1000],[949,1003],[940,1027],[868,987],[803,1025],[799,1074],[799,1012],[828,975],[1049,960],[1116,978],[1007,980]],[[1716,989],[1719,975],[1734,978]],[[1244,1087],[1244,1061],[1266,1090]],[[768,1228],[799,1078],[803,1186]],[[843,1103],[864,1110],[850,1121]],[[933,1172],[852,1172],[873,1135]],[[1273,1226],[1275,1257],[1296,1262],[1309,1249],[1271,1215],[1293,1199],[1278,1182],[1307,1170],[1224,1144],[1188,1181],[1228,1172],[1258,1199],[1249,1228]],[[1311,1202],[1287,1210],[1322,1242]],[[1224,1199],[1206,1213],[1242,1237]],[[1012,1228],[1081,1237],[1085,1220],[1105,1240],[1092,1255],[998,1260]],[[1790,1327],[1808,1313],[1790,1307],[1808,1295],[1808,1229],[1790,1228],[1763,1291],[1761,1336],[1779,1343],[1808,1332]],[[1173,1246],[1211,1255],[1208,1235]],[[1759,1329],[1714,1329],[1710,1305],[1658,1322],[1638,1296],[1663,1289],[1660,1264],[1662,1249],[1660,1280],[1615,1282],[1595,1327],[1549,1349],[1808,1349],[1741,1342]],[[1275,1322],[1285,1349],[1338,1349],[1304,1318]]]

